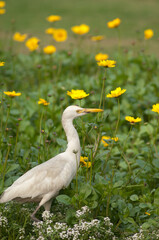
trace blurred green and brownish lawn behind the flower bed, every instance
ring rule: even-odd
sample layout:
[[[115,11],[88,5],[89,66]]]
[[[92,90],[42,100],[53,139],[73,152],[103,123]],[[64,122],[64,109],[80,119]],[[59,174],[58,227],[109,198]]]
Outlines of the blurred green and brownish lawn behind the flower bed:
[[[8,0],[6,14],[1,15],[1,34],[12,30],[45,39],[45,29],[50,26],[46,17],[51,14],[62,16],[56,27],[66,28],[70,37],[71,26],[85,23],[91,27],[90,35],[103,34],[107,38],[104,44],[111,45],[117,33],[107,28],[107,22],[119,17],[123,45],[142,39],[144,30],[151,28],[151,50],[159,50],[159,0]]]

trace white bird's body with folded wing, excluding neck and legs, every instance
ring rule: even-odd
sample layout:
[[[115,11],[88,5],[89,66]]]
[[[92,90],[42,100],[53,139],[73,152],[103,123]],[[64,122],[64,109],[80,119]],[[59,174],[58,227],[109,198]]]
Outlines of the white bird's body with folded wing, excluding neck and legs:
[[[58,192],[70,183],[75,174],[69,157],[67,153],[61,153],[32,168],[4,191],[0,202],[7,202],[18,197],[42,198],[51,191]]]

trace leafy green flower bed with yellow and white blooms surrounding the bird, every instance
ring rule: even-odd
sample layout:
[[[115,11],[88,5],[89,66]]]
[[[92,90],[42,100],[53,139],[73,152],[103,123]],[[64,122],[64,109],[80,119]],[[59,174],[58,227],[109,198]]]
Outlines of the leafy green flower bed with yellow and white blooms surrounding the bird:
[[[34,204],[1,204],[0,239],[159,239],[159,62],[144,33],[124,50],[122,24],[109,29],[117,33],[117,46],[98,64],[101,41],[91,42],[86,32],[74,37],[69,50],[52,36],[56,48],[43,50],[38,38],[26,46],[30,37],[19,36],[21,42],[10,40],[10,51],[1,50],[1,193],[27,170],[65,151],[61,114],[68,105],[104,112],[75,120],[83,158],[51,213],[41,209],[43,222],[36,224],[30,220]],[[88,41],[91,53],[83,48]],[[73,89],[86,94],[73,99]]]

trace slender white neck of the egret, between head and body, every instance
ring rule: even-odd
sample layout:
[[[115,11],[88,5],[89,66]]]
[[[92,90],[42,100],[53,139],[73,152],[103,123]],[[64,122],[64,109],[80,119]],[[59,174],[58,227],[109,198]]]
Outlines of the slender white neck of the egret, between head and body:
[[[73,126],[73,121],[71,119],[62,119],[62,126],[65,130],[68,141],[66,151],[76,154],[79,162],[81,155],[80,140],[78,137],[78,133]]]

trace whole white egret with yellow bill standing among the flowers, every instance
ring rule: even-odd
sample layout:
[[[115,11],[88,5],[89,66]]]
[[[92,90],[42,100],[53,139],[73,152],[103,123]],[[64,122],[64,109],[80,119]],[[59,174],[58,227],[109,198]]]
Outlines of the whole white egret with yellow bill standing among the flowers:
[[[31,218],[39,221],[35,214],[41,206],[50,211],[52,199],[66,188],[76,175],[80,163],[80,140],[73,126],[73,119],[87,113],[102,112],[101,109],[67,107],[62,115],[62,126],[67,136],[65,152],[58,154],[50,160],[30,169],[8,187],[0,196],[0,203],[8,201],[39,202]]]

